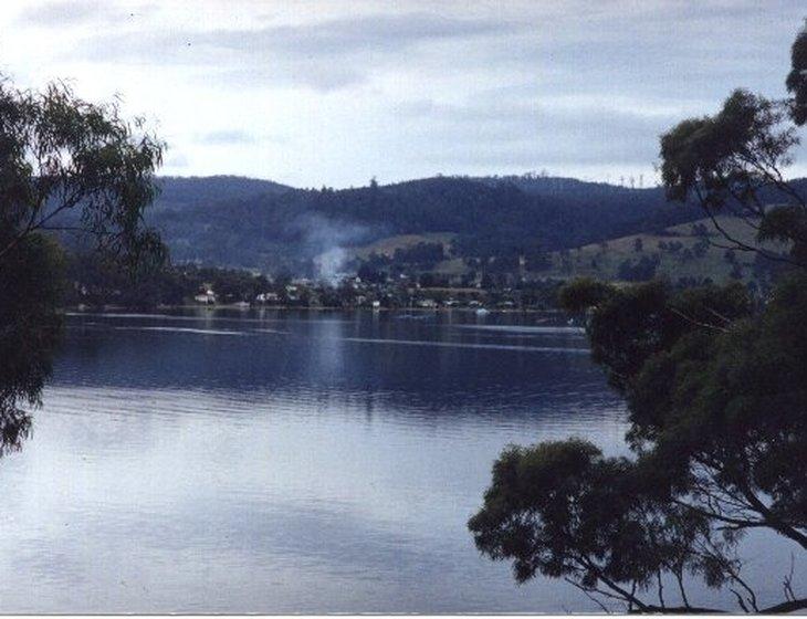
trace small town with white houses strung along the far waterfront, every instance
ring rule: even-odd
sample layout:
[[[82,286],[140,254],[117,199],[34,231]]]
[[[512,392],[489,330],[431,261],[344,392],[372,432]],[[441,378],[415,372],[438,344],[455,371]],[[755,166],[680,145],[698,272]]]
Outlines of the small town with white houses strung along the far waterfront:
[[[268,275],[193,264],[139,279],[119,279],[91,264],[72,267],[69,305],[88,307],[207,306],[290,308],[465,308],[543,311],[555,306],[562,280],[513,274],[446,277],[436,273],[391,275],[359,271],[335,277]]]

